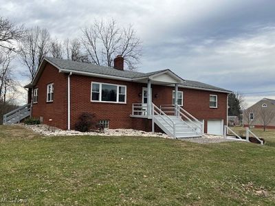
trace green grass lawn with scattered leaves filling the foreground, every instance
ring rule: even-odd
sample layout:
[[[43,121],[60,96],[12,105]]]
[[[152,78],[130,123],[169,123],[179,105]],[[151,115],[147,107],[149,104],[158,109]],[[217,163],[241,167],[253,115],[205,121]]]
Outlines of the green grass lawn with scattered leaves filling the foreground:
[[[0,201],[274,205],[274,157],[275,147],[268,144],[41,137],[20,126],[0,126]]]

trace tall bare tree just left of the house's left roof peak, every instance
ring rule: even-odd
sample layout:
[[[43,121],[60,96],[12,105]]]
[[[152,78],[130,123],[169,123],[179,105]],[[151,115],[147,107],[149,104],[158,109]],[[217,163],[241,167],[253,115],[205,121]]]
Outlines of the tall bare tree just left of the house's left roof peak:
[[[19,47],[19,55],[23,64],[28,67],[25,74],[31,80],[34,79],[44,56],[50,51],[50,33],[40,27],[32,27],[26,32],[25,38]]]

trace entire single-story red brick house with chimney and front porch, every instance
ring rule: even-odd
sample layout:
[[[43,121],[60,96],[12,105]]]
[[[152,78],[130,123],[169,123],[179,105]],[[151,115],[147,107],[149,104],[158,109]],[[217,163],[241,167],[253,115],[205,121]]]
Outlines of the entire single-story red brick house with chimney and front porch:
[[[151,73],[46,57],[29,88],[31,115],[74,129],[83,112],[108,128],[163,130],[174,137],[222,135],[230,91],[184,80],[169,69]],[[177,101],[175,101],[177,100]]]

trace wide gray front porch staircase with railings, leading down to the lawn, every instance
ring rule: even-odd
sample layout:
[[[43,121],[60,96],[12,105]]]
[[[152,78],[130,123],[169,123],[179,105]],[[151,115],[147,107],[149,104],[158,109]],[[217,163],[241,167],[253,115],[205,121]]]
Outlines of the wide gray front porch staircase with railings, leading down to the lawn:
[[[201,137],[203,135],[203,123],[177,104],[164,105],[160,108],[152,104],[153,131],[154,124],[174,138]]]

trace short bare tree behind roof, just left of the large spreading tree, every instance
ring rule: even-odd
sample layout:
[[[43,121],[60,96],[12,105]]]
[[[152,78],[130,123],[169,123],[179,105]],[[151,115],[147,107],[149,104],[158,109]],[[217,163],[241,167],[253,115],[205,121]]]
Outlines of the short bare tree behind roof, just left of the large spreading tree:
[[[87,55],[83,54],[83,51],[81,50],[81,43],[77,38],[66,39],[64,41],[64,45],[67,60],[89,62],[89,58]]]

